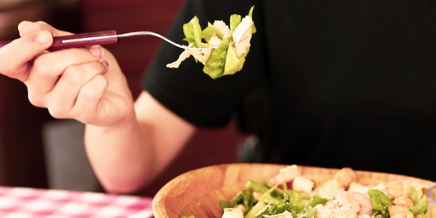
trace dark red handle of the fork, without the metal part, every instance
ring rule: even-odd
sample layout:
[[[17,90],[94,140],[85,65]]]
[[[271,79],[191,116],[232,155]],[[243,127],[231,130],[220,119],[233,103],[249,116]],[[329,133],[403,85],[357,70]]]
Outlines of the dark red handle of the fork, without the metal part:
[[[69,36],[55,36],[53,37],[53,44],[49,47],[49,51],[56,51],[59,49],[68,49],[73,47],[86,47],[91,45],[106,45],[118,42],[117,32],[111,31],[98,31],[91,33],[78,33]],[[70,40],[70,41],[69,41]],[[11,41],[0,42],[0,47],[7,45]]]

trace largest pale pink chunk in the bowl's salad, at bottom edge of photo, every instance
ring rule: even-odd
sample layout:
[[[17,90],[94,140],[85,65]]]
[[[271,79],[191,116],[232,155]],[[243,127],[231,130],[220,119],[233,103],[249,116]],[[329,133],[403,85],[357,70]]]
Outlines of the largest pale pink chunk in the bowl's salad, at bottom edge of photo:
[[[373,213],[369,196],[359,192],[338,192],[332,201],[316,208],[316,218],[366,218]]]

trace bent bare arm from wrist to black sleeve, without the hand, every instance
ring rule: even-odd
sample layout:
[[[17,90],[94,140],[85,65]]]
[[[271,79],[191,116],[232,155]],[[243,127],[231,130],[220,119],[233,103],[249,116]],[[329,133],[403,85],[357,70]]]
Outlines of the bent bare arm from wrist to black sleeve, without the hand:
[[[136,116],[114,127],[86,126],[88,157],[109,192],[129,193],[148,184],[194,134],[182,120],[143,91]]]

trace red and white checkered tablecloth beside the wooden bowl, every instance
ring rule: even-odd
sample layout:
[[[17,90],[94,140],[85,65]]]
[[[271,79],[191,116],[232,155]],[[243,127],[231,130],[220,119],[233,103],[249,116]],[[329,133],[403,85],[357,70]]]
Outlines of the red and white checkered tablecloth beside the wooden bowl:
[[[3,218],[147,218],[152,198],[58,189],[0,187]]]

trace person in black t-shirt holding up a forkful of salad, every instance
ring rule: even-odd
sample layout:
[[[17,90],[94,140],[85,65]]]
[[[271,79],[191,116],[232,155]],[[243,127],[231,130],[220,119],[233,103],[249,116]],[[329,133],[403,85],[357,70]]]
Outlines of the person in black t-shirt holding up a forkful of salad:
[[[436,180],[434,1],[187,0],[168,36],[184,38],[194,16],[205,26],[251,6],[257,32],[235,75],[211,79],[192,59],[166,68],[181,51],[164,43],[134,100],[106,49],[46,52],[68,33],[44,22],[18,26],[21,38],[0,49],[0,73],[26,84],[36,107],[86,123],[88,157],[108,192],[148,184],[197,127],[226,125],[254,90],[265,98],[241,117],[265,123],[247,161]]]

